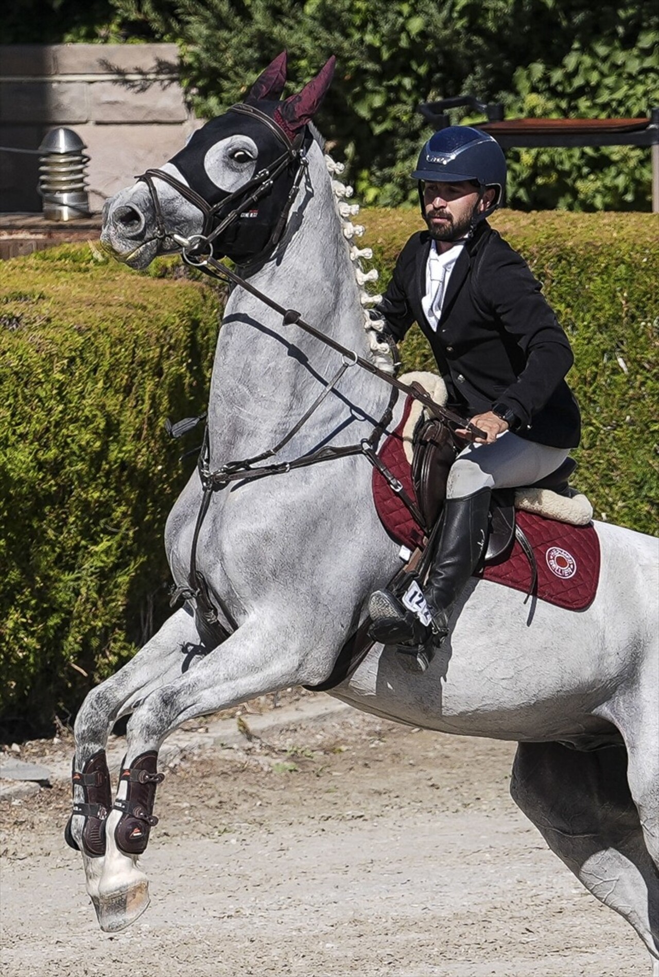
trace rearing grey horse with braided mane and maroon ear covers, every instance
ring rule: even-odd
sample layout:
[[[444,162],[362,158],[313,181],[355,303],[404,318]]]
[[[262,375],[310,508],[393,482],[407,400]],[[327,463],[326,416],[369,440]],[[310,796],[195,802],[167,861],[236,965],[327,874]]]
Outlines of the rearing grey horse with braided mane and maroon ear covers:
[[[352,239],[360,232],[355,207],[310,126],[331,68],[282,100],[286,60],[277,59],[241,106],[109,201],[103,240],[117,258],[144,268],[158,253],[194,255],[194,245],[222,226],[212,246],[234,257],[249,285],[356,356],[382,362],[365,315],[376,297],[364,284],[375,276],[362,270],[365,255]],[[208,254],[204,246],[198,254]],[[278,451],[276,474],[220,479],[208,492],[203,471],[192,476],[165,530],[184,606],[79,710],[67,834],[81,850],[105,930],[128,925],[149,903],[138,859],[154,824],[165,738],[194,717],[324,682],[365,618],[369,595],[401,566],[399,546],[376,515],[363,454],[286,464],[371,436],[390,391],[350,362],[246,287],[231,292],[213,366],[206,475],[268,455],[318,404]],[[399,402],[391,427],[401,411]],[[596,532],[601,572],[587,610],[535,600],[530,611],[519,592],[474,578],[427,671],[375,645],[331,694],[426,729],[518,742],[515,801],[593,895],[630,921],[657,977],[659,543],[607,524]],[[207,625],[201,611],[209,608],[226,640]],[[126,714],[112,806],[104,750]]]

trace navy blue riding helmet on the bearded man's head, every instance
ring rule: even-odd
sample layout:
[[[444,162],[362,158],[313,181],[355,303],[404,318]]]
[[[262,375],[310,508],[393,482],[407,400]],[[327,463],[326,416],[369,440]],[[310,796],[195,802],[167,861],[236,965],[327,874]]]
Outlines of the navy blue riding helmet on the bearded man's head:
[[[417,169],[412,174],[418,180],[418,195],[423,208],[423,188],[428,183],[477,183],[481,193],[494,187],[497,191],[490,206],[482,214],[474,215],[474,223],[482,221],[499,207],[505,193],[505,155],[496,139],[480,129],[452,125],[431,136],[418,155]]]

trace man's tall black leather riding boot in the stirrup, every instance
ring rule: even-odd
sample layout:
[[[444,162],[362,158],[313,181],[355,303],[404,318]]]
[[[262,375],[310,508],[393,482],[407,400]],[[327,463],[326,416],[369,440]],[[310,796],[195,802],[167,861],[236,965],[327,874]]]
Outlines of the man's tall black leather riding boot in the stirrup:
[[[417,613],[404,605],[388,590],[376,590],[369,603],[373,624],[371,637],[383,644],[399,644],[403,648],[425,645],[425,665],[449,632],[451,608],[462,587],[474,572],[487,539],[491,491],[480,488],[473,495],[449,498],[444,505],[437,552],[423,587],[423,596],[430,612],[431,625],[424,625]],[[418,589],[418,588],[417,588]]]

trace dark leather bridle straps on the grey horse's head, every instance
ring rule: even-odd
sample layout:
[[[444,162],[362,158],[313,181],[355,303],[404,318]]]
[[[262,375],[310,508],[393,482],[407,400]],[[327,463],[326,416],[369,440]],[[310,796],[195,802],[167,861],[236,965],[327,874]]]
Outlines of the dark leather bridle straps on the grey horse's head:
[[[152,240],[162,242],[166,238],[169,238],[170,240],[175,239],[173,233],[169,233],[165,225],[160,200],[154,184],[154,180],[157,179],[168,184],[175,191],[180,193],[181,196],[185,197],[189,203],[192,203],[194,207],[197,207],[198,210],[201,211],[203,215],[203,227],[201,229],[201,234],[195,235],[195,247],[193,250],[197,254],[203,253],[205,255],[212,256],[213,241],[221,234],[224,234],[227,228],[235,224],[245,210],[252,207],[263,196],[266,196],[272,190],[275,182],[286,171],[286,169],[292,163],[295,163],[297,165],[297,170],[292,186],[286,198],[286,204],[282,210],[282,213],[280,214],[279,220],[275,225],[272,234],[270,234],[270,237],[268,238],[265,247],[262,248],[259,255],[255,255],[252,259],[250,259],[251,261],[254,261],[262,255],[270,252],[279,243],[282,234],[284,234],[288,212],[308,165],[306,153],[303,149],[304,131],[300,132],[295,137],[295,140],[291,142],[284,129],[278,125],[274,119],[270,118],[269,115],[266,115],[265,112],[260,111],[258,108],[239,104],[236,106],[231,106],[229,111],[241,112],[243,115],[249,115],[253,118],[257,118],[260,122],[267,126],[268,129],[270,129],[270,131],[277,137],[279,142],[284,146],[284,152],[279,155],[275,161],[270,164],[270,166],[259,170],[259,172],[256,173],[245,184],[243,184],[239,190],[229,193],[224,197],[224,199],[211,205],[207,200],[204,200],[204,198],[200,196],[197,191],[194,191],[192,187],[189,187],[187,184],[177,180],[176,177],[173,177],[170,173],[166,173],[164,170],[149,169],[140,174],[140,176],[136,177],[136,179],[146,183],[152,203],[154,205],[155,234],[152,237]]]

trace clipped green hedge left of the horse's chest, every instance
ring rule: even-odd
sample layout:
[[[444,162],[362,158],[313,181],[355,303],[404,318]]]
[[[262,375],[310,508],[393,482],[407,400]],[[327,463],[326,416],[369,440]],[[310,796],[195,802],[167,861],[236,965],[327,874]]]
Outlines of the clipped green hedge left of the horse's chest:
[[[88,248],[3,263],[6,723],[66,718],[169,613],[162,531],[186,475],[163,421],[204,408],[216,322],[207,288]]]

